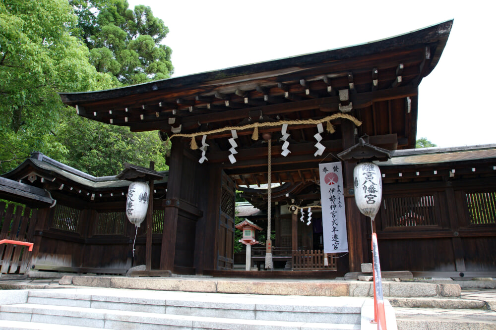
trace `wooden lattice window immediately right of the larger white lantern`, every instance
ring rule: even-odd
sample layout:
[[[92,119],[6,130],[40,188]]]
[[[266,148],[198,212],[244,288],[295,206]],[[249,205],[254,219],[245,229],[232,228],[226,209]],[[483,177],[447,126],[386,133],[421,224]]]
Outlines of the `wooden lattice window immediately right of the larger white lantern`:
[[[383,200],[386,227],[437,225],[435,195],[393,197]]]

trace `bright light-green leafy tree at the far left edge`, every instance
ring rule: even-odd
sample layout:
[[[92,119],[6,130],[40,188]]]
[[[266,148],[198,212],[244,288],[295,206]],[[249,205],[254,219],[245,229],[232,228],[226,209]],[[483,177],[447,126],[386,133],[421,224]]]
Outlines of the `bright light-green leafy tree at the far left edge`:
[[[62,159],[58,91],[111,88],[88,49],[70,35],[77,19],[65,0],[0,0],[0,170],[38,150]]]

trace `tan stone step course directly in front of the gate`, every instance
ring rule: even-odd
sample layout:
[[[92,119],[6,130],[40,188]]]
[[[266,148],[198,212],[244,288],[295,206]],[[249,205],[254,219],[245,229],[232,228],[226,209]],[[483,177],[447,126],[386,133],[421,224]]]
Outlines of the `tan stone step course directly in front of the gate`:
[[[131,278],[123,276],[64,276],[61,284],[210,293],[372,297],[372,282],[335,280],[249,280],[233,278]],[[1,286],[0,286],[1,287]],[[383,281],[384,297],[459,297],[451,283]]]

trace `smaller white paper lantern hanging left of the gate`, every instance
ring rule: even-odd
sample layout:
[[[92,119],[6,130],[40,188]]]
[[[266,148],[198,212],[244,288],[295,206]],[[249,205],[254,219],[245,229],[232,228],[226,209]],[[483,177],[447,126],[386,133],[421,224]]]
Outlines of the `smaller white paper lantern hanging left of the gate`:
[[[150,200],[150,187],[146,182],[132,182],[127,190],[125,214],[137,227],[145,220]]]

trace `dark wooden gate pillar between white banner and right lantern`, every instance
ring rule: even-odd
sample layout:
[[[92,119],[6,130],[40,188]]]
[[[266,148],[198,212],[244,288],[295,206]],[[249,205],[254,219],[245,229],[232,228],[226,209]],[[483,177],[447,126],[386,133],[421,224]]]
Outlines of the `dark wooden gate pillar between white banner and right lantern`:
[[[356,144],[355,141],[355,125],[348,120],[344,120],[341,124],[343,150],[350,148]],[[346,208],[346,230],[348,232],[348,251],[350,260],[350,272],[361,272],[361,265],[365,259],[364,255],[364,240],[365,233],[361,223],[361,213],[355,203],[355,196],[350,195],[350,190],[353,186],[353,169],[356,164],[344,162],[344,202]]]

